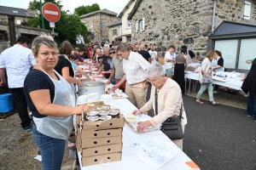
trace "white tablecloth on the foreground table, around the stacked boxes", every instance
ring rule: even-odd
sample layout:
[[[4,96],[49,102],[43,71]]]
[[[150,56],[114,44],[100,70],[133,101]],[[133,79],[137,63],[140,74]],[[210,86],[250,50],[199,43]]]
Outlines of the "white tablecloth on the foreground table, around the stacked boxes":
[[[128,99],[115,99],[113,100],[113,104],[119,106],[120,111],[124,114],[131,114],[132,111],[136,110],[137,108],[131,104],[131,102]],[[144,141],[148,139],[152,139],[154,137],[158,137],[160,139],[164,139],[166,141],[172,142],[170,139],[166,137],[164,133],[162,133],[160,130],[149,132],[149,133],[135,133],[131,130],[131,127],[127,126],[125,124],[124,130],[123,130],[123,153],[122,153],[122,161],[113,161],[108,168],[109,170],[113,169],[129,169],[129,170],[136,170],[136,169],[153,169],[153,167],[150,167],[145,162],[141,161],[135,153],[133,152],[133,147],[131,147],[131,142],[137,141],[140,143],[143,143]],[[79,160],[81,160],[80,152],[79,154]],[[192,169],[188,165],[186,165],[187,161],[191,161],[189,156],[187,156],[182,150],[175,156],[171,161],[168,161],[164,167],[161,169],[175,169],[175,170],[189,170]],[[80,162],[80,166],[81,166]],[[102,167],[100,165],[94,165],[89,167],[81,167],[82,170],[96,170],[101,169]]]

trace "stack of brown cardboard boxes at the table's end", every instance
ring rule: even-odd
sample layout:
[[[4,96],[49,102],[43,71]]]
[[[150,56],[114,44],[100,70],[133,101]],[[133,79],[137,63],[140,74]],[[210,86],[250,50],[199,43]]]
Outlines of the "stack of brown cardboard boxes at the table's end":
[[[119,118],[92,122],[87,121],[86,114],[77,116],[77,147],[81,152],[83,167],[99,164],[102,158],[120,161],[124,116],[119,112]]]

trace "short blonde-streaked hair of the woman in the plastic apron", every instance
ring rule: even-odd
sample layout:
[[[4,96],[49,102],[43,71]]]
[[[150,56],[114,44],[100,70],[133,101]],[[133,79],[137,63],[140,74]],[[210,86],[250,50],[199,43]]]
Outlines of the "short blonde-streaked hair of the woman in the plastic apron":
[[[57,46],[54,38],[51,36],[48,36],[46,34],[42,34],[42,35],[39,35],[38,37],[36,37],[32,42],[31,49],[32,49],[33,54],[37,55],[39,48],[43,44],[47,45],[49,48],[53,48],[56,51],[58,51],[58,46]]]

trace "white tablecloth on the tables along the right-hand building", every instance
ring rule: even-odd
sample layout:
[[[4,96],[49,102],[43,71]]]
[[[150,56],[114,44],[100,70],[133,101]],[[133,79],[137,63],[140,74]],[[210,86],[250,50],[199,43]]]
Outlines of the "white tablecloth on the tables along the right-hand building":
[[[185,78],[189,78],[192,80],[198,80],[199,74],[198,73],[189,73],[189,74],[185,74]],[[241,90],[241,85],[242,82],[241,81],[237,81],[234,78],[226,78],[228,80],[228,82],[221,82],[218,80],[214,80],[213,79],[213,84],[218,84],[220,86],[224,86],[224,87],[228,87],[228,88],[235,88],[236,90]]]

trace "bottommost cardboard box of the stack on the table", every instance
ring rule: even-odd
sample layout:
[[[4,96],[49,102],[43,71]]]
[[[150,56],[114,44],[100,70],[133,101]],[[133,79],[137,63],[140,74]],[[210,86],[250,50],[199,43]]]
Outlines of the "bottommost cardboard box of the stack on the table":
[[[90,156],[90,157],[83,157],[82,158],[82,166],[90,166],[90,165],[99,165],[101,159],[108,158],[111,162],[113,161],[121,161],[122,152],[119,153],[112,153],[106,154],[102,156]]]

